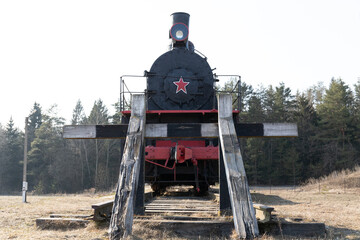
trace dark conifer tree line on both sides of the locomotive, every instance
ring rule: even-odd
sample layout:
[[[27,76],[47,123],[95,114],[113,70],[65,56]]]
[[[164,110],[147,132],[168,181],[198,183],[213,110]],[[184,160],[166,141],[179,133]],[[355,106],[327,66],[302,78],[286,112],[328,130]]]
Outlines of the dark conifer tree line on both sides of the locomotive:
[[[231,91],[231,80],[221,88]],[[294,122],[297,138],[242,138],[241,150],[248,181],[253,185],[300,184],[310,177],[353,168],[360,163],[360,82],[352,90],[342,79],[328,87],[318,84],[292,93],[285,84],[241,84],[242,122]],[[236,98],[234,93],[234,98]],[[237,108],[235,106],[234,108]],[[90,114],[79,100],[71,124],[117,124],[101,99]],[[56,106],[46,113],[35,103],[28,123],[28,182],[35,193],[80,192],[111,189],[118,178],[121,140],[66,140],[64,118]],[[12,119],[0,125],[0,194],[21,191],[24,133]]]

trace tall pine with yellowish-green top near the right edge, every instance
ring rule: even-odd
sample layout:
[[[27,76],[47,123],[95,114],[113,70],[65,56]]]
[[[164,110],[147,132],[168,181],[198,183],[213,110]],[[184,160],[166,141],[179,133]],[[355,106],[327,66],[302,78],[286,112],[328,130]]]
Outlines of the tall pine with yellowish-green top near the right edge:
[[[322,104],[318,105],[323,148],[322,161],[326,173],[353,167],[356,157],[354,141],[354,97],[341,79],[332,79]]]

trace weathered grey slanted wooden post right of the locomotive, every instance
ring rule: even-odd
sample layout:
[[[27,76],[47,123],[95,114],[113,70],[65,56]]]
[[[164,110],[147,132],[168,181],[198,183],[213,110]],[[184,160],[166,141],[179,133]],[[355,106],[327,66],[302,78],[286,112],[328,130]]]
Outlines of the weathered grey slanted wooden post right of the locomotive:
[[[252,205],[239,141],[235,133],[231,95],[219,94],[218,106],[219,139],[224,158],[235,230],[240,238],[255,238],[259,235],[259,228]]]

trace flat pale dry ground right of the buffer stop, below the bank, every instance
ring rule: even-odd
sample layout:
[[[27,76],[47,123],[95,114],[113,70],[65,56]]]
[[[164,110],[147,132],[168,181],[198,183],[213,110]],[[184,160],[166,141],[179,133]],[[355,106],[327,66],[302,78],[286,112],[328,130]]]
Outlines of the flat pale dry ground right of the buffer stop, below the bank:
[[[325,223],[327,239],[360,239],[359,189],[261,188],[252,199],[279,217]]]

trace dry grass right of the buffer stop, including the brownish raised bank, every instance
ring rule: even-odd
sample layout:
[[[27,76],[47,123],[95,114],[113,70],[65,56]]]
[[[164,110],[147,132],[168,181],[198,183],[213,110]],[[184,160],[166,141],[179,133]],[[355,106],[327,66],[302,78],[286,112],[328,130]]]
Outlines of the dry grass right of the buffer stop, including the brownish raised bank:
[[[273,206],[280,217],[323,222],[329,237],[360,239],[360,167],[311,179],[297,189],[262,188],[253,200]]]

